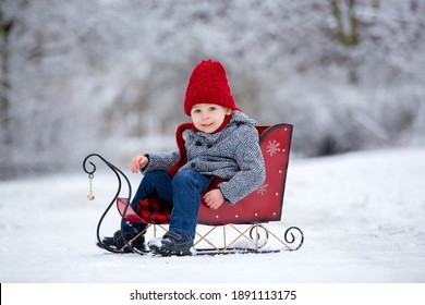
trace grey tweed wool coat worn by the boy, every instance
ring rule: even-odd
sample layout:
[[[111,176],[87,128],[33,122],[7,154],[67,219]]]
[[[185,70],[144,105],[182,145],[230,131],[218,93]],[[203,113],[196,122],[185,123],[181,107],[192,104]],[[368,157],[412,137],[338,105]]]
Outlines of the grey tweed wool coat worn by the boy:
[[[181,170],[192,170],[204,175],[224,179],[218,184],[223,197],[234,205],[255,191],[266,178],[264,159],[258,144],[256,122],[240,111],[234,111],[228,125],[220,132],[207,134],[186,130],[183,133],[187,162]],[[180,158],[179,151],[148,154],[142,172],[168,171]]]

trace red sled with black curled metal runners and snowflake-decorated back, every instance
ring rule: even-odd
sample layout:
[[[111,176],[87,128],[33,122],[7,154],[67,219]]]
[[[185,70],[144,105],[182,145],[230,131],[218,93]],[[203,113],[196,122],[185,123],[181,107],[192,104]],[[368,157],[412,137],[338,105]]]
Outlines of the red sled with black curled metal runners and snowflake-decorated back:
[[[201,204],[196,228],[197,237],[194,241],[197,254],[272,253],[298,251],[303,245],[304,234],[298,227],[288,228],[281,236],[274,233],[269,225],[266,227],[266,223],[280,221],[282,217],[292,125],[257,126],[257,131],[266,166],[266,180],[262,186],[233,206],[223,204],[219,209],[214,210],[204,203]],[[99,244],[102,244],[99,234],[101,222],[112,205],[117,205],[121,215],[121,223],[124,221],[145,222],[149,225],[143,233],[150,232],[153,236],[157,236],[158,230],[163,230],[161,233],[165,233],[167,231],[165,225],[168,224],[172,212],[166,208],[167,205],[161,205],[159,198],[148,198],[139,202],[139,207],[142,206],[139,210],[146,212],[142,216],[136,213],[130,205],[132,188],[129,179],[120,169],[97,154],[88,155],[83,161],[83,169],[88,174],[90,183],[96,166],[89,161],[92,166],[89,170],[86,163],[94,157],[98,157],[114,172],[119,183],[116,196],[97,227]],[[127,184],[129,197],[120,197],[122,179]],[[90,194],[87,198],[93,199],[93,197],[90,184]],[[122,237],[126,242],[124,248],[129,247],[132,252],[143,255],[147,253],[134,248],[133,241],[126,241],[125,236]],[[124,248],[111,249],[105,246],[104,248],[114,253],[124,252]]]

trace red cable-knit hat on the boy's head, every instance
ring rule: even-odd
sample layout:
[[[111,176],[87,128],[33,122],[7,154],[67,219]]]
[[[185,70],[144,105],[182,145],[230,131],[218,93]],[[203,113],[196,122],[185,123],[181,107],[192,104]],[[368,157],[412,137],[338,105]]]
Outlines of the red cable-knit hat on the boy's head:
[[[240,110],[234,102],[226,70],[220,62],[203,60],[193,70],[184,98],[184,112],[191,115],[191,109],[196,103],[216,103]]]

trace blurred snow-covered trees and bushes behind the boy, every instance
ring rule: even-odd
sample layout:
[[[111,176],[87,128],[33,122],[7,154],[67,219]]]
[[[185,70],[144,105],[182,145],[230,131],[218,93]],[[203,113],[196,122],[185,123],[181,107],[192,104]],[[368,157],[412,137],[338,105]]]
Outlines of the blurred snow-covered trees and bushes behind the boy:
[[[423,0],[0,0],[0,179],[173,147],[202,59],[292,156],[424,146]]]

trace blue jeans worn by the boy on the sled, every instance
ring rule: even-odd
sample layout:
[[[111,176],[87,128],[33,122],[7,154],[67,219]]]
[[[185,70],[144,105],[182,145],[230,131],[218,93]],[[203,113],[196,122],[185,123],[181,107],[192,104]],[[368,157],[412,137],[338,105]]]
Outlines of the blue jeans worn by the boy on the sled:
[[[174,178],[166,171],[150,171],[142,179],[131,205],[137,210],[139,200],[154,196],[161,198],[173,207],[169,230],[194,239],[201,197],[207,191],[208,184],[209,178],[191,170],[181,170]],[[146,223],[127,225],[136,231],[147,227]]]

